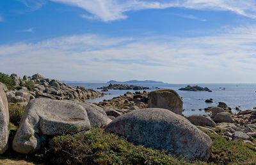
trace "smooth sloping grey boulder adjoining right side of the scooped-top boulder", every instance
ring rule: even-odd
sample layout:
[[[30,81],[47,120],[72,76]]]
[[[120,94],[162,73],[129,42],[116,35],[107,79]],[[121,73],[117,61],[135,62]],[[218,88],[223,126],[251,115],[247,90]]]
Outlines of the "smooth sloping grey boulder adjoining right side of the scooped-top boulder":
[[[92,127],[106,127],[112,120],[107,116],[106,112],[99,106],[84,102],[77,103],[87,111],[88,118]]]

